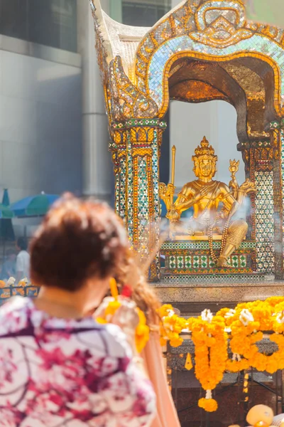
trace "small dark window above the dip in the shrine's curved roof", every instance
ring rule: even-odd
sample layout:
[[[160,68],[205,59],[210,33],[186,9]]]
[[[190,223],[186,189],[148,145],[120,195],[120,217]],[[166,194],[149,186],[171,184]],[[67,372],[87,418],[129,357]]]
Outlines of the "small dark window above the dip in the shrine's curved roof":
[[[123,23],[131,26],[153,26],[170,10],[170,1],[131,1],[122,3]]]

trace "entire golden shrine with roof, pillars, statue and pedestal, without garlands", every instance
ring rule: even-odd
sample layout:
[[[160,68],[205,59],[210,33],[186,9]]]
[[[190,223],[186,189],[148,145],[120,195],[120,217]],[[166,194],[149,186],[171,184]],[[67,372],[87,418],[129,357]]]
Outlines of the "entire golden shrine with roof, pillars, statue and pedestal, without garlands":
[[[99,0],[91,6],[116,212],[142,260],[158,247],[161,200],[168,211],[162,258],[155,256],[149,273],[161,299],[191,313],[204,301],[234,305],[282,295],[284,31],[247,21],[239,0],[181,1],[153,28],[111,20]],[[171,182],[160,183],[171,99],[222,99],[235,107],[244,184],[236,181],[233,159],[230,183],[212,179],[217,156],[206,136],[192,157],[197,180],[175,194],[173,164]],[[250,209],[239,218],[245,198]],[[190,208],[192,219],[182,223]]]

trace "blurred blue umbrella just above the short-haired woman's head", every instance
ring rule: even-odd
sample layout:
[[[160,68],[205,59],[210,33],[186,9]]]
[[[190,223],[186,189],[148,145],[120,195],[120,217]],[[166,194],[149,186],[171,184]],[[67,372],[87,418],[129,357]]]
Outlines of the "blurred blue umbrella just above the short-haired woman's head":
[[[56,194],[36,194],[11,204],[11,210],[16,216],[43,216],[57,199]]]

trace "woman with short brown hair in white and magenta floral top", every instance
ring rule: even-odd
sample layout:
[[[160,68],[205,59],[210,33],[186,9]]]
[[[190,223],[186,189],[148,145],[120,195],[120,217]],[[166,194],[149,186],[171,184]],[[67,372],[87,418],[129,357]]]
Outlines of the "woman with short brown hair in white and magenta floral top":
[[[3,425],[151,425],[155,393],[133,357],[135,344],[89,315],[128,248],[124,226],[105,204],[66,195],[48,212],[31,242],[39,296],[0,308]],[[138,315],[123,309],[120,317],[135,330]]]

